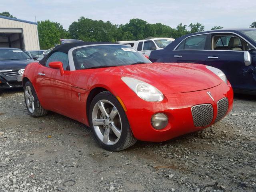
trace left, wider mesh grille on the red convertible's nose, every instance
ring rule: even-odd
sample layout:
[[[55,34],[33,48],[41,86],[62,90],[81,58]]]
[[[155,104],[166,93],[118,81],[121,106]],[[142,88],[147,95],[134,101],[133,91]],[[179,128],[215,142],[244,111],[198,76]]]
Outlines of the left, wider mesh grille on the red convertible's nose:
[[[204,127],[212,122],[213,108],[211,104],[195,105],[191,111],[196,127]]]

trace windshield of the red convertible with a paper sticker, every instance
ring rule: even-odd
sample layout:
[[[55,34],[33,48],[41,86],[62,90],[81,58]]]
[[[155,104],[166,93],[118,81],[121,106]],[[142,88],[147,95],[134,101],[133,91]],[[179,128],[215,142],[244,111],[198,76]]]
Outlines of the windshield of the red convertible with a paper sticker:
[[[141,53],[125,45],[94,45],[73,51],[76,70],[151,63]]]

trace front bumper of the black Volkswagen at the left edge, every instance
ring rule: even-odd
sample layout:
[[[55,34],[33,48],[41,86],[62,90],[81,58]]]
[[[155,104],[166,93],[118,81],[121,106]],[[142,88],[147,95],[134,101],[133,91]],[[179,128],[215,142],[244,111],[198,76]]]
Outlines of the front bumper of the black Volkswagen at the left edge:
[[[22,87],[22,76],[6,76],[0,72],[0,89]]]

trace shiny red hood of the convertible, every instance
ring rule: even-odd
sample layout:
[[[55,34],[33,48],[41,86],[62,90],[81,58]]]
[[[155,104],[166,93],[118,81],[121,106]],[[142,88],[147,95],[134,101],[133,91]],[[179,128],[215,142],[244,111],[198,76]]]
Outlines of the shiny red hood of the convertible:
[[[142,80],[163,94],[206,90],[222,80],[200,64],[152,63],[105,68],[108,73]]]

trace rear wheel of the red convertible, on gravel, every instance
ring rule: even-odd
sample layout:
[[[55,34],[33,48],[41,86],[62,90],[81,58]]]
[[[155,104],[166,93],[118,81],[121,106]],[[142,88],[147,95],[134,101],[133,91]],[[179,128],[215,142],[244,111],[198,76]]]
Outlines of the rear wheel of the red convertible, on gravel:
[[[25,83],[24,86],[24,98],[28,113],[32,117],[45,116],[48,111],[45,110],[37,97],[36,91],[30,81]]]

